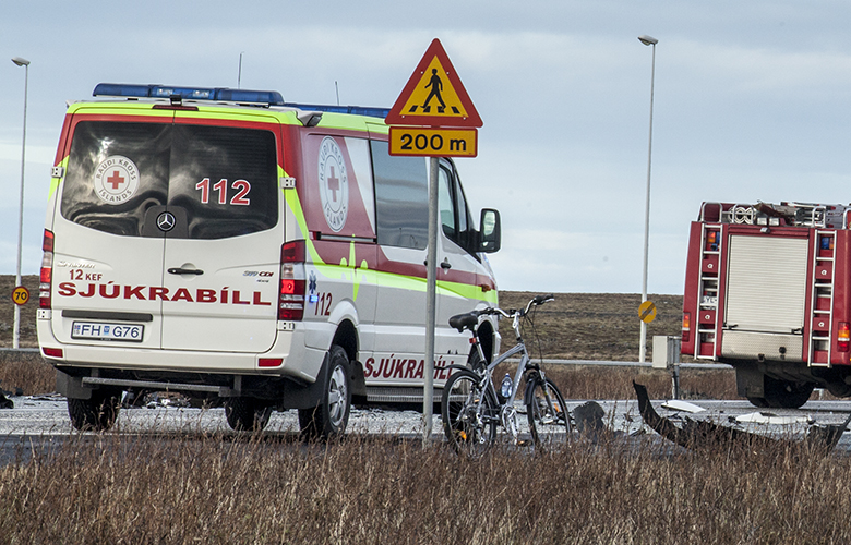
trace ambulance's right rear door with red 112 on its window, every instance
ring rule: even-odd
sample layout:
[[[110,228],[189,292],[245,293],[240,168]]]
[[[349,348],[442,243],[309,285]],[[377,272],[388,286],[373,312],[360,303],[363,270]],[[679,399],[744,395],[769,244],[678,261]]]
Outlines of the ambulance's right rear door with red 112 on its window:
[[[275,341],[280,251],[279,125],[175,119],[164,232],[163,348],[263,352]],[[191,116],[191,117],[190,117]]]

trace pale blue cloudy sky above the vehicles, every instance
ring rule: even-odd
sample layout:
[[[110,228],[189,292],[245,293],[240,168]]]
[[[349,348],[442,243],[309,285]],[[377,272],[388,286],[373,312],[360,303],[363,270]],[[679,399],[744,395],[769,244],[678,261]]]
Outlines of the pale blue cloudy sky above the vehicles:
[[[389,107],[439,38],[483,121],[456,159],[502,216],[500,289],[681,294],[704,201],[851,202],[851,3],[819,0],[9,0],[0,17],[0,274],[38,272],[67,100],[95,85],[279,90]],[[12,5],[14,4],[14,5]],[[11,9],[13,8],[13,9]],[[656,46],[652,150],[649,152]],[[239,60],[242,55],[241,76]],[[5,58],[7,60],[2,60]],[[241,81],[240,81],[241,77]]]

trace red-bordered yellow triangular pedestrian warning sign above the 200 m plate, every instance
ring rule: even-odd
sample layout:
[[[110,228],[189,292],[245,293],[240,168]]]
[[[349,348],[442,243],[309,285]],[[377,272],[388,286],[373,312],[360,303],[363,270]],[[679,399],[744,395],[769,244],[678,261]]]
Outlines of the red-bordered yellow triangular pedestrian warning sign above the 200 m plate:
[[[434,40],[384,119],[388,125],[481,126],[440,40]]]

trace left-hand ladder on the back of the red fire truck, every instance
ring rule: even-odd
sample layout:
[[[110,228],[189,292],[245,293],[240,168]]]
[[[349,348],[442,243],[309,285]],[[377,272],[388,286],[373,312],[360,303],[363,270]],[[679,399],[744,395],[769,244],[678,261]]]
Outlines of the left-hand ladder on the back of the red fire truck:
[[[715,245],[707,240],[707,231],[715,231]],[[700,282],[697,287],[696,359],[715,360],[718,332],[718,282],[721,258],[721,223],[703,223],[700,232]]]

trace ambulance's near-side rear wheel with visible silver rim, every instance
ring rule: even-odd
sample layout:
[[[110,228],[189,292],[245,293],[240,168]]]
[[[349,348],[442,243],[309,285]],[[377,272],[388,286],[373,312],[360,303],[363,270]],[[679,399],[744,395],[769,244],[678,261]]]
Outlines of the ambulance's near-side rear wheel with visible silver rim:
[[[299,425],[305,439],[327,440],[346,433],[351,410],[351,379],[349,358],[341,347],[328,351],[328,368],[320,404],[299,409]]]

